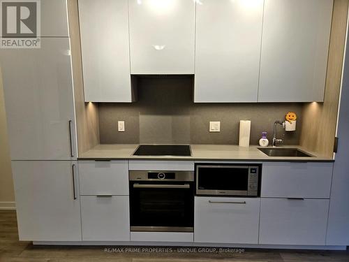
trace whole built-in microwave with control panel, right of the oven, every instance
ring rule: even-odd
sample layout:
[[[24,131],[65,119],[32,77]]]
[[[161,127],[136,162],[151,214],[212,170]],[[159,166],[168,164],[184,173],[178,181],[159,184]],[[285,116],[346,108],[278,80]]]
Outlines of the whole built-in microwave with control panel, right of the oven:
[[[196,163],[196,194],[258,196],[261,169],[258,164]]]

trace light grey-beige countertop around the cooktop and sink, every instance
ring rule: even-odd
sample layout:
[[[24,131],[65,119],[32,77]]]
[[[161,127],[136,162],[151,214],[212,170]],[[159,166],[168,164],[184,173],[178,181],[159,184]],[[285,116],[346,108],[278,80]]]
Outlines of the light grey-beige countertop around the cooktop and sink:
[[[313,155],[313,157],[269,157],[260,152],[257,145],[250,147],[239,147],[238,145],[191,145],[191,157],[159,157],[159,156],[133,156],[138,144],[113,144],[96,145],[91,150],[79,156],[80,160],[94,159],[127,159],[127,160],[191,160],[191,161],[318,161],[331,162],[334,159],[322,157],[313,152],[300,150]]]

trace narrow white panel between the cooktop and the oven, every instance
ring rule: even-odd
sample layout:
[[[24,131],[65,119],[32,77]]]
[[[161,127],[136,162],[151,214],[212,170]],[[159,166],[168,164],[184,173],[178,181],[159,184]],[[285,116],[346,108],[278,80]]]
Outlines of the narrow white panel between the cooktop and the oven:
[[[130,170],[183,170],[193,171],[193,161],[148,161],[148,160],[134,160],[129,161]]]

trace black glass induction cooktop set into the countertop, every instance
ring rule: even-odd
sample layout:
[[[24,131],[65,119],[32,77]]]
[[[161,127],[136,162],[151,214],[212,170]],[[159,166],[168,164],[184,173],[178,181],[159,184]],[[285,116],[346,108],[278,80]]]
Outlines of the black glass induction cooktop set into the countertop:
[[[190,145],[140,145],[134,156],[174,156],[190,157]]]

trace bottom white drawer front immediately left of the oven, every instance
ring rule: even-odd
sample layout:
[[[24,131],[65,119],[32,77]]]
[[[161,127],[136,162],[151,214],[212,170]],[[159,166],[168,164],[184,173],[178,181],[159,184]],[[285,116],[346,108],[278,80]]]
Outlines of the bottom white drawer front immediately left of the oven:
[[[129,213],[128,196],[82,196],[82,240],[129,241]]]

